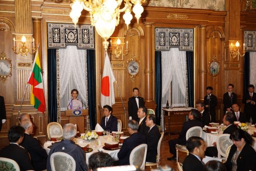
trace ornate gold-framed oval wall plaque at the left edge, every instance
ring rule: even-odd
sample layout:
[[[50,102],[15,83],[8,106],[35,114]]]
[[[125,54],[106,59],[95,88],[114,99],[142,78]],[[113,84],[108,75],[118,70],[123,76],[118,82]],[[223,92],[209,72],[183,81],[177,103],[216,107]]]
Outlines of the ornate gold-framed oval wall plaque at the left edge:
[[[7,58],[5,52],[0,53],[0,79],[4,83],[7,77],[11,77],[11,59]]]

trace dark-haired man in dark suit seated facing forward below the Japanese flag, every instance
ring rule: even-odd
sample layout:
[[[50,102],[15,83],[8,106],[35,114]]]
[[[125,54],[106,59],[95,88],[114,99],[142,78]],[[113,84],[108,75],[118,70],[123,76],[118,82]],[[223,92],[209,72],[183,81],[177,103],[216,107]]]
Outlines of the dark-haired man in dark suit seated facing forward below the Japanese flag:
[[[109,105],[103,106],[104,116],[101,118],[100,126],[104,130],[117,131],[117,118],[112,115],[112,107]]]

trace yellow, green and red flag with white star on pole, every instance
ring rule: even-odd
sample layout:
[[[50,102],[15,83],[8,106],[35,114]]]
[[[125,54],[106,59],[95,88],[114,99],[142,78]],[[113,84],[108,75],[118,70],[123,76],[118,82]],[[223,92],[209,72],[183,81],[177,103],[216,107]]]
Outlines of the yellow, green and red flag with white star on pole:
[[[38,49],[35,53],[33,67],[27,82],[31,85],[30,104],[33,104],[34,108],[44,113],[45,100]]]

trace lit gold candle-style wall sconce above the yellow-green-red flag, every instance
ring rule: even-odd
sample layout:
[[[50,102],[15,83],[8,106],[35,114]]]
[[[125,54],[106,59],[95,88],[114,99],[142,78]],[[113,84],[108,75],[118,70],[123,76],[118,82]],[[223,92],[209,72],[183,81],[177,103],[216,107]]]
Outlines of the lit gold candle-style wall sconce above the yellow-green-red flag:
[[[32,44],[32,52],[30,51],[29,48],[26,47],[26,37],[23,35],[21,37],[21,46],[18,48],[18,51],[16,51],[16,43],[15,43],[15,38],[13,38],[13,47],[12,47],[12,50],[15,54],[20,54],[21,56],[26,56],[27,53],[29,54],[33,54],[35,52],[35,49],[34,49],[34,38],[33,38],[33,44]]]

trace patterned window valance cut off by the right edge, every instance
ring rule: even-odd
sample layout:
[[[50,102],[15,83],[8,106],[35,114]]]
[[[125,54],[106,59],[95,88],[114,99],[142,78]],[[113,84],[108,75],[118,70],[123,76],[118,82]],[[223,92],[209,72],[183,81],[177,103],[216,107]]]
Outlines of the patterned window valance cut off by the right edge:
[[[256,31],[244,31],[244,50],[256,51]]]

